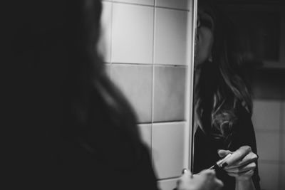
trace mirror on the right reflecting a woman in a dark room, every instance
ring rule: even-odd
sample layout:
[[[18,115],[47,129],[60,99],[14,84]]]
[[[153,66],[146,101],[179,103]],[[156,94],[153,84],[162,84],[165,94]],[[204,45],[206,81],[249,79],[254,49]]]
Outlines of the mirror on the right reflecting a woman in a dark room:
[[[256,189],[285,188],[284,10],[284,1],[198,1],[195,173],[229,153],[218,149],[247,145],[259,156]],[[235,189],[237,173],[217,169],[224,189]]]

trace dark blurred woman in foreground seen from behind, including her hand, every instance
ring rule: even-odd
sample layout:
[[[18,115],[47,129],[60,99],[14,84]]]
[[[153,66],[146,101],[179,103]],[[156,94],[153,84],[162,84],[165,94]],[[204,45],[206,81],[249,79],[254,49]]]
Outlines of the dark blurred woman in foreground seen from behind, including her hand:
[[[21,68],[10,73],[16,90],[11,151],[4,154],[12,161],[10,188],[157,190],[133,110],[95,51],[101,6],[99,0],[6,6],[10,65]],[[221,186],[213,171],[202,171],[192,179],[184,174],[177,188]]]

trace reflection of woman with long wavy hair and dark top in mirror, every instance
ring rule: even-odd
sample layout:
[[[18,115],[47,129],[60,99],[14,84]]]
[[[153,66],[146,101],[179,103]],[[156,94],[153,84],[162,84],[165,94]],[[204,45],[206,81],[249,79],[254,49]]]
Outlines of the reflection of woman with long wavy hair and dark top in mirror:
[[[235,31],[211,2],[199,1],[195,49],[194,172],[212,167],[224,189],[260,189],[252,100],[240,77]]]

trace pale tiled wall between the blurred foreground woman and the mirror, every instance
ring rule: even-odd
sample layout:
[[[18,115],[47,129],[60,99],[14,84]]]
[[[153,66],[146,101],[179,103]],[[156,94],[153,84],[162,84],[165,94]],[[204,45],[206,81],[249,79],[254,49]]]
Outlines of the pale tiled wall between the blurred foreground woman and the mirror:
[[[187,88],[191,0],[103,1],[103,54],[110,78],[138,115],[163,190],[189,167]]]

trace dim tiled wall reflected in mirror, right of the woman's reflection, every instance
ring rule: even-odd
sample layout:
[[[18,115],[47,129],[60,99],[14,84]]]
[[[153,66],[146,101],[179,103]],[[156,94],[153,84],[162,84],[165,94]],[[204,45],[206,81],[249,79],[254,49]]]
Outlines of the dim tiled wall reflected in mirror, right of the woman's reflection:
[[[254,100],[261,189],[285,189],[285,100]]]

